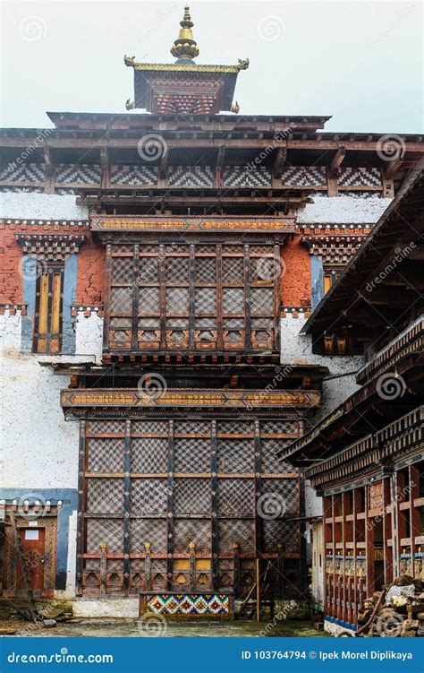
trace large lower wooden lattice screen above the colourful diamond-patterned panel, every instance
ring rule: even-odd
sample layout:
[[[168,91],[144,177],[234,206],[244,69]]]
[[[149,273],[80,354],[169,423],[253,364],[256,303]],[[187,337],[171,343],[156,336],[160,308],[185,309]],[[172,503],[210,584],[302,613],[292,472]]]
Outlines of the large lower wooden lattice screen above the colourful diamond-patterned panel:
[[[299,479],[276,458],[299,434],[290,418],[81,420],[79,592],[239,592],[259,555],[299,565]]]

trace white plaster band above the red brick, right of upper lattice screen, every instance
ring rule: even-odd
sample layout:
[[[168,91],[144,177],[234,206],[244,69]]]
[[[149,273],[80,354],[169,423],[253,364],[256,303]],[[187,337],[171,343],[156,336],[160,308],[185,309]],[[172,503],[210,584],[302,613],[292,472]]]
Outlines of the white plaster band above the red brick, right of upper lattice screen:
[[[391,199],[378,196],[357,198],[355,196],[313,196],[313,203],[307,203],[299,211],[298,224],[374,224]]]

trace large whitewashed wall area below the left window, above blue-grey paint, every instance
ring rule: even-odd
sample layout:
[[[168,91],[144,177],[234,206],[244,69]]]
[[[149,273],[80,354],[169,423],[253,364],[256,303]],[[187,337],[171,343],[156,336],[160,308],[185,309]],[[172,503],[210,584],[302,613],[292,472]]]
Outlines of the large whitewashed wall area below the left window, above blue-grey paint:
[[[39,364],[60,358],[20,352],[19,312],[0,318],[0,487],[76,488],[78,424],[65,423],[59,397],[69,377]]]

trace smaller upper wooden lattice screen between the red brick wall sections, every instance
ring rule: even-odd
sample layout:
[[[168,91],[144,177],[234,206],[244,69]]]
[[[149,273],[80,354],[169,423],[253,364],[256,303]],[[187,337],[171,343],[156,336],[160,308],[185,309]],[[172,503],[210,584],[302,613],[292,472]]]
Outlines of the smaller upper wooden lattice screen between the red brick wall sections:
[[[278,349],[279,246],[108,244],[110,351]]]

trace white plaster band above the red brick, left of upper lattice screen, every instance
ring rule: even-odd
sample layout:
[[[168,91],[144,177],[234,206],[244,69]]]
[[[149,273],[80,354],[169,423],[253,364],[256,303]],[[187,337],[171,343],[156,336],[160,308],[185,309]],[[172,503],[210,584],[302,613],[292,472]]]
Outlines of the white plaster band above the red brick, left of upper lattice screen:
[[[0,217],[29,220],[88,220],[89,209],[74,194],[0,193]]]

